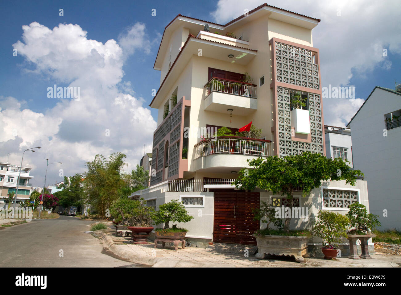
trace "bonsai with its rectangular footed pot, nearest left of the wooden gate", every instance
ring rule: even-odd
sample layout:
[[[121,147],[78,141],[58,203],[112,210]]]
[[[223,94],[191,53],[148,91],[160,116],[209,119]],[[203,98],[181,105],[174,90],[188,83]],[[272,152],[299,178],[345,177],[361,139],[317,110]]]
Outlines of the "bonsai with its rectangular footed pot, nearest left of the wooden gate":
[[[194,217],[188,215],[184,205],[176,199],[172,199],[170,202],[160,205],[159,210],[154,214],[153,220],[155,224],[164,224],[164,226],[154,230],[156,234],[155,246],[157,246],[157,239],[161,239],[162,242],[165,242],[163,239],[183,240],[188,230],[185,228],[177,228],[176,225],[170,228],[169,223],[170,221],[186,223],[192,218]],[[177,247],[178,243],[175,244],[175,246]]]

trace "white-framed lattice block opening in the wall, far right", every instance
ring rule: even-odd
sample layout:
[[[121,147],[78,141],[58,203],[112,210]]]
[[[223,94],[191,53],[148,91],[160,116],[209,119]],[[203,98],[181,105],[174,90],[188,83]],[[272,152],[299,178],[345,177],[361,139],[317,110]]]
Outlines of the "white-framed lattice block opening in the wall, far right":
[[[359,202],[359,189],[322,187],[323,209],[348,210],[352,203]]]

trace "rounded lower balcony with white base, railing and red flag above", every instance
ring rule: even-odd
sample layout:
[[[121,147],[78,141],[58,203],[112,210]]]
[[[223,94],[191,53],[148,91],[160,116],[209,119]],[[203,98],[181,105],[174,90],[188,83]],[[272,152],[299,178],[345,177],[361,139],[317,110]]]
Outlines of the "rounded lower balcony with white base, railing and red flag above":
[[[270,155],[270,140],[221,136],[195,144],[194,171],[231,173],[249,168],[248,159]]]

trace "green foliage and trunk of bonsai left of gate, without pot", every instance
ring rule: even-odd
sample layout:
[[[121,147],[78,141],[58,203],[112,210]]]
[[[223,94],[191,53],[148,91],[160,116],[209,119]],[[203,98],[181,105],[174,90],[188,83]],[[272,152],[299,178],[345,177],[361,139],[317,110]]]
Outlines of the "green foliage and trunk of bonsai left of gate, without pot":
[[[180,201],[172,199],[170,202],[159,206],[159,210],[156,211],[153,220],[155,224],[163,223],[164,229],[166,229],[170,228],[170,221],[186,223],[192,218],[194,217],[188,215],[188,212]]]

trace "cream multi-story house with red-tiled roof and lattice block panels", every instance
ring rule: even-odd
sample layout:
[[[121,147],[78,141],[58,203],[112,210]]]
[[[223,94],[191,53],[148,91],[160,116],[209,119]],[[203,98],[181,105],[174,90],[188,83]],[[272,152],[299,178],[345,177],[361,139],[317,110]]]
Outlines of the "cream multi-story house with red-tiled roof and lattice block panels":
[[[154,63],[161,76],[150,103],[158,109],[150,187],[130,197],[155,208],[180,199],[194,219],[178,225],[197,246],[255,244],[252,234],[262,225],[252,210],[261,201],[281,206],[287,199],[236,190],[231,183],[238,171],[257,157],[326,155],[319,50],[312,43],[319,22],[267,4],[224,25],[176,16]],[[210,138],[218,128],[235,132],[251,121],[262,129],[260,138]],[[292,228],[310,228],[320,209],[344,213],[356,201],[369,206],[361,179],[354,187],[336,181],[308,197],[301,193],[295,204],[310,214],[293,219]]]

